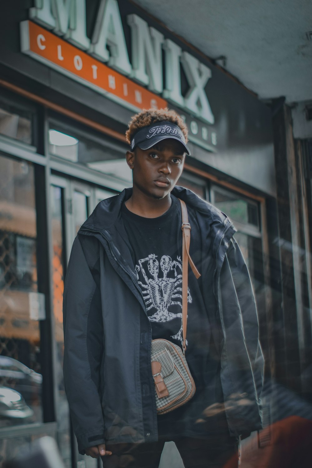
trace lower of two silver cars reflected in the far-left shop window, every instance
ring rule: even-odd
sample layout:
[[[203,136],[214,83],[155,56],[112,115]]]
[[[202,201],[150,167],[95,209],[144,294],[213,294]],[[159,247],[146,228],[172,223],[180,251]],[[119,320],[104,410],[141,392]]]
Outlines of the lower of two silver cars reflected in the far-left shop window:
[[[0,385],[0,417],[26,419],[33,414],[19,392]]]

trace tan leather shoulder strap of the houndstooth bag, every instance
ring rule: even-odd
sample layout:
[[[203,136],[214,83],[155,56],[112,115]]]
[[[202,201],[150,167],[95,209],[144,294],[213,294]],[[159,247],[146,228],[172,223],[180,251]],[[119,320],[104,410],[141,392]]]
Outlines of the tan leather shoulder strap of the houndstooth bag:
[[[183,334],[183,343],[182,349],[183,353],[186,350],[186,329],[188,322],[188,267],[191,265],[191,269],[198,279],[200,273],[194,265],[190,255],[189,255],[189,243],[191,240],[191,226],[189,224],[188,210],[186,208],[183,200],[180,200],[181,203],[181,212],[182,212],[182,334]]]

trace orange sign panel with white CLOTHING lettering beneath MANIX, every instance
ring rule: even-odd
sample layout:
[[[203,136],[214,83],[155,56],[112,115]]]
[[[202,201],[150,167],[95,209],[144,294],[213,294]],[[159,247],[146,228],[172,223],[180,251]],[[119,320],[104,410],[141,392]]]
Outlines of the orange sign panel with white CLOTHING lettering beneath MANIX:
[[[21,22],[22,52],[133,109],[160,109],[167,101],[31,21]]]

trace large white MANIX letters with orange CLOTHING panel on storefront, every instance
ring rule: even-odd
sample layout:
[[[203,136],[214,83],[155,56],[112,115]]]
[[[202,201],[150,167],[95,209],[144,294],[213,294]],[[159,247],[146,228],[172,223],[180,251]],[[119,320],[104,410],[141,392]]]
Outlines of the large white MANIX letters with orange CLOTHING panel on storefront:
[[[22,22],[22,51],[136,108],[151,107],[146,102],[152,100],[152,107],[163,107],[166,102],[157,97],[162,95],[205,123],[214,124],[205,91],[210,68],[135,14],[126,16],[131,29],[130,62],[116,0],[99,1],[91,39],[86,33],[86,0],[35,0],[35,5],[29,10],[30,18],[55,34],[35,28],[32,22]],[[189,84],[186,93],[181,92],[181,67]],[[112,68],[118,73],[113,73]],[[136,87],[131,80],[155,94],[145,94],[145,88]]]

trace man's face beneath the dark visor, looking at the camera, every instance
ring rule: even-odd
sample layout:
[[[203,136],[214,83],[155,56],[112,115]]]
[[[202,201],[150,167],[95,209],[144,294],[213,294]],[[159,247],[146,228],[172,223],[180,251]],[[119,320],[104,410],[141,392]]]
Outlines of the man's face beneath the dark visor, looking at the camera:
[[[165,139],[149,149],[136,148],[126,154],[132,169],[133,189],[161,199],[168,195],[181,176],[185,150],[174,139]]]

